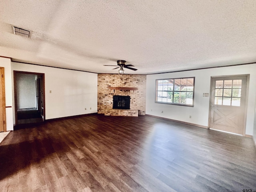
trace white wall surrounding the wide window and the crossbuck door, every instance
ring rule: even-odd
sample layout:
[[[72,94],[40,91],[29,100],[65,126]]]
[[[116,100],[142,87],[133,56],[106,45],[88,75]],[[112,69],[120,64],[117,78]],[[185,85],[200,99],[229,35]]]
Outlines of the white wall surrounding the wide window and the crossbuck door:
[[[250,74],[246,134],[252,135],[256,101],[256,64],[147,75],[146,114],[208,126],[210,97],[203,97],[203,93],[210,93],[211,76],[238,74]],[[156,79],[181,77],[195,77],[194,107],[155,103]],[[189,118],[190,115],[192,118]]]

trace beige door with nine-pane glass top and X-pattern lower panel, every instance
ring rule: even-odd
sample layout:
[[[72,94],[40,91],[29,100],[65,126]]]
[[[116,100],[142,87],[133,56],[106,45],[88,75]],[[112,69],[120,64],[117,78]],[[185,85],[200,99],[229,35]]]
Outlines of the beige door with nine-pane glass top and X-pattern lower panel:
[[[212,78],[210,128],[244,135],[247,75]]]

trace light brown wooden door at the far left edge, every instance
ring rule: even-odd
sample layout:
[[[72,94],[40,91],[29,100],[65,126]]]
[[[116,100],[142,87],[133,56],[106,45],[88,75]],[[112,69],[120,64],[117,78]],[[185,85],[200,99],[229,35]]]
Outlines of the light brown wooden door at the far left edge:
[[[6,131],[4,68],[0,67],[0,132]]]

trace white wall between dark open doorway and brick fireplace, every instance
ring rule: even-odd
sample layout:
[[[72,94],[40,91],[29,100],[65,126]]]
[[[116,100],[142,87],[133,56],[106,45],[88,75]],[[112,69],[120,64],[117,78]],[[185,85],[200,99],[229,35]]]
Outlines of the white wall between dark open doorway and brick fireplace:
[[[18,62],[11,65],[12,71],[45,74],[46,120],[97,112],[97,74]]]

